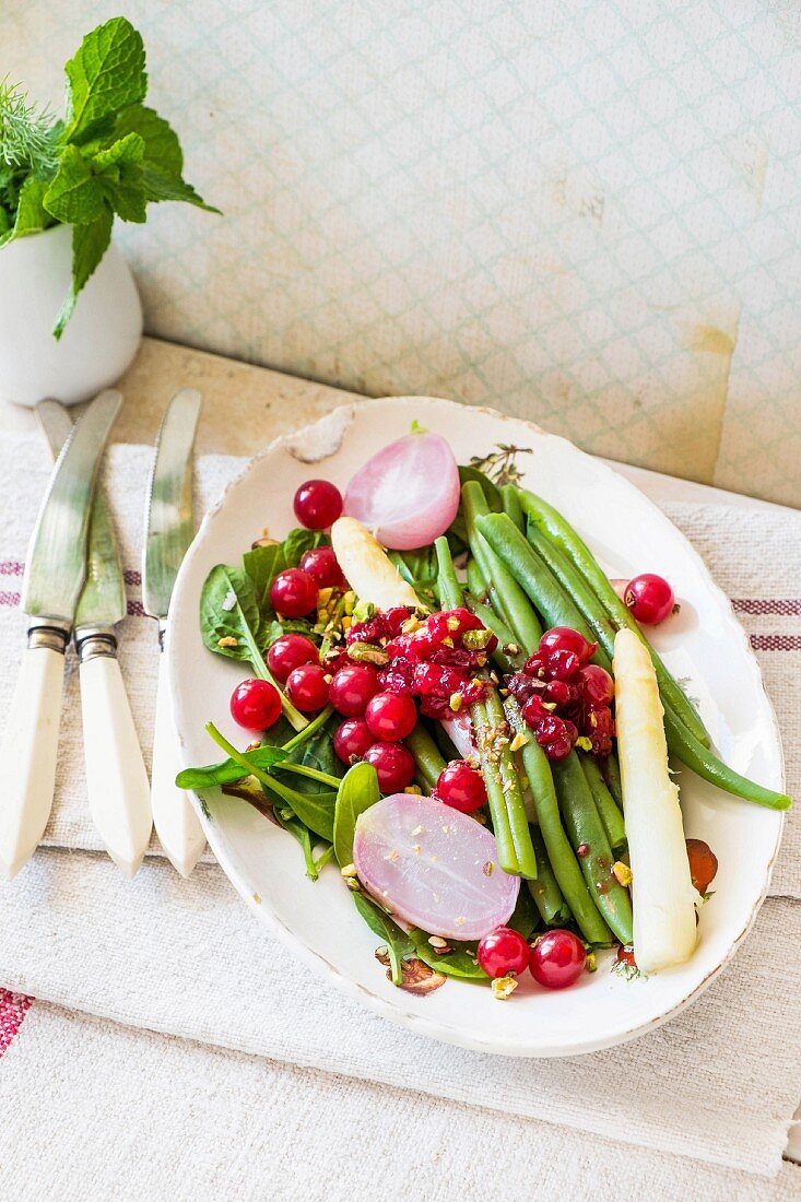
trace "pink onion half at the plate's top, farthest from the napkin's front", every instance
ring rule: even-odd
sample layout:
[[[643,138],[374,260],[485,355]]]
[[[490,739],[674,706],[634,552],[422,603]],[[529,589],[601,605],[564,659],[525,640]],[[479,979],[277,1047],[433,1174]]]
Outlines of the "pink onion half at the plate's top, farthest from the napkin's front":
[[[426,547],[459,507],[459,472],[439,434],[408,434],[368,459],[345,493],[344,512],[391,551]]]

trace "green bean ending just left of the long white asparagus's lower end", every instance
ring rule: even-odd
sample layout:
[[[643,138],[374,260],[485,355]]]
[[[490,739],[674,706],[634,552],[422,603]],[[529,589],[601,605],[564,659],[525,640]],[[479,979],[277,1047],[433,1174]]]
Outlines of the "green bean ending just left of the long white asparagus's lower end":
[[[575,751],[551,762],[559,808],[587,888],[622,944],[633,941],[631,899],[612,871],[613,856]]]

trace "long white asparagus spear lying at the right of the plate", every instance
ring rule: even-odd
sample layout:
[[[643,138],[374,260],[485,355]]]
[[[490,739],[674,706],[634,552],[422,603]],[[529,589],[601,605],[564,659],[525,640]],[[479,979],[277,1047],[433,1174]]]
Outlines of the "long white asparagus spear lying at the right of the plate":
[[[683,964],[695,948],[695,903],[678,789],[670,779],[657,677],[631,630],[615,638],[615,703],[631,864],[634,956],[645,972]]]

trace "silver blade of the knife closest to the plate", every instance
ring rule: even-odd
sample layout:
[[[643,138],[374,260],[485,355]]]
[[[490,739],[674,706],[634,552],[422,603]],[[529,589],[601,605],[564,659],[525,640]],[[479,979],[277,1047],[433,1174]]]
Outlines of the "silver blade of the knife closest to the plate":
[[[165,621],[178,569],[195,536],[192,518],[192,446],[202,399],[182,388],[167,406],[150,477],[142,558],[142,603]]]

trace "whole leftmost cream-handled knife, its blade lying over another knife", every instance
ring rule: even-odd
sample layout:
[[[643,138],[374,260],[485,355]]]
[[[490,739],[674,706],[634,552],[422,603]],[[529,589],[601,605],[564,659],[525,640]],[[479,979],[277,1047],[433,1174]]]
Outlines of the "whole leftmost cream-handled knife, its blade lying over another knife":
[[[64,651],[87,575],[89,512],[97,469],[123,401],[101,393],[59,454],[30,540],[20,607],[28,647],[0,745],[0,875],[6,880],[36,850],[53,805]]]

